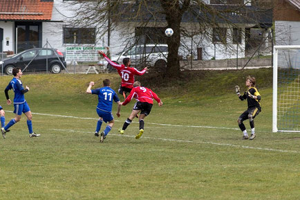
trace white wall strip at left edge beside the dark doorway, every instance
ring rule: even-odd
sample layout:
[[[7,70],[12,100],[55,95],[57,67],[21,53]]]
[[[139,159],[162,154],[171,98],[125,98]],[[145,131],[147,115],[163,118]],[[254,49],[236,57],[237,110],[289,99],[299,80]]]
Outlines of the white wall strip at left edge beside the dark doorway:
[[[0,21],[0,28],[3,28],[3,51],[13,51],[15,41],[15,22],[13,21]],[[6,41],[9,45],[6,45]]]

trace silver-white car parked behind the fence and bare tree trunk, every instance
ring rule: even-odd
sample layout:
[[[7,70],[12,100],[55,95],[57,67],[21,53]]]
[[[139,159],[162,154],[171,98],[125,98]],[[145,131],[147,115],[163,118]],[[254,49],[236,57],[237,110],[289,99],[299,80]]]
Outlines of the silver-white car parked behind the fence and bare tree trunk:
[[[130,57],[131,66],[137,69],[142,69],[145,66],[165,67],[167,64],[168,46],[167,44],[147,44],[146,46],[133,46],[113,55],[111,60],[115,63],[122,64],[125,57]],[[100,64],[104,64],[109,72],[115,71],[115,68],[108,62],[100,61]]]

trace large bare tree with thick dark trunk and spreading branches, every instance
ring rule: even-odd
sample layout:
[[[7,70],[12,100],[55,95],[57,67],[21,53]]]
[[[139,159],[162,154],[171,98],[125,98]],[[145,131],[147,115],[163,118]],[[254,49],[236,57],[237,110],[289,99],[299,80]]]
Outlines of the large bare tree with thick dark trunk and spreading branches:
[[[218,42],[227,45],[224,37],[227,33],[223,31],[225,28],[237,27],[238,23],[257,24],[260,15],[264,12],[261,10],[260,15],[256,15],[258,10],[248,9],[249,2],[241,0],[228,1],[233,5],[222,4],[221,0],[211,1],[216,5],[209,5],[205,0],[77,0],[71,2],[73,6],[77,6],[77,9],[76,15],[69,18],[70,24],[95,26],[99,35],[108,35],[108,43],[111,42],[111,33],[114,30],[118,30],[118,33],[126,38],[127,44],[123,46],[147,43],[147,40],[156,44],[161,42],[161,40],[154,41],[153,38],[164,40],[169,47],[166,78],[177,78],[180,73],[178,49],[182,44],[182,36],[205,35],[204,37],[210,40],[218,36]],[[162,29],[150,33],[147,27]],[[163,34],[165,28],[172,28],[174,35],[165,37]],[[212,28],[215,28],[215,33]],[[159,37],[151,36],[155,34]],[[226,51],[230,48],[232,47],[226,47]]]

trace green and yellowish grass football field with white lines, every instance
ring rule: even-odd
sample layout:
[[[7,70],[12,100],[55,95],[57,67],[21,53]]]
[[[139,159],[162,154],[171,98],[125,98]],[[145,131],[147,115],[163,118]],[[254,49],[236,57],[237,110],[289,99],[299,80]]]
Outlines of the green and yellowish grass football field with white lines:
[[[263,107],[255,140],[241,140],[236,120],[247,103],[234,85],[243,88],[249,74],[257,77]],[[11,78],[0,78],[0,91]],[[97,97],[85,91],[104,78],[118,89],[117,74],[24,75],[41,137],[28,137],[22,116],[0,139],[0,199],[299,199],[300,135],[272,133],[271,69],[199,72],[173,83],[145,77],[164,105],[154,104],[143,136],[134,138],[137,120],[118,134],[131,102],[99,143]],[[4,93],[0,104],[9,122],[13,107]]]

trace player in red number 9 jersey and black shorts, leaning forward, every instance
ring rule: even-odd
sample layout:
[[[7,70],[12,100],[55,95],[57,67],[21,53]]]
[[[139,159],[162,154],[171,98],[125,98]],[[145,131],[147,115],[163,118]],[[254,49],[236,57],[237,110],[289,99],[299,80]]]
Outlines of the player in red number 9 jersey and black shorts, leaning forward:
[[[140,138],[144,133],[144,118],[149,115],[151,108],[153,106],[153,98],[158,102],[158,105],[162,106],[162,101],[156,93],[148,89],[147,87],[141,87],[140,82],[136,81],[133,84],[133,89],[131,90],[129,96],[122,102],[122,105],[128,104],[133,98],[135,98],[138,102],[134,104],[132,112],[129,118],[126,119],[122,129],[119,129],[120,134],[124,134],[125,129],[131,124],[133,118],[140,113],[138,118],[140,122],[140,131],[138,135],[135,136],[135,139]]]

